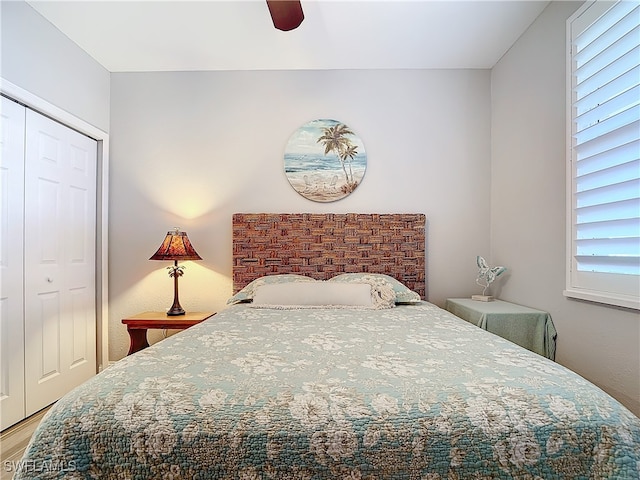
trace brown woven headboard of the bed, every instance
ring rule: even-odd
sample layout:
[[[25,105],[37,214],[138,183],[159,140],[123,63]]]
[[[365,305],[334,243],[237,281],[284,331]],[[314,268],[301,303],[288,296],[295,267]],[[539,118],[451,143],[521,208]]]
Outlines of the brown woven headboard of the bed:
[[[264,275],[327,280],[339,273],[385,273],[423,299],[425,216],[420,213],[236,213],[233,292]]]

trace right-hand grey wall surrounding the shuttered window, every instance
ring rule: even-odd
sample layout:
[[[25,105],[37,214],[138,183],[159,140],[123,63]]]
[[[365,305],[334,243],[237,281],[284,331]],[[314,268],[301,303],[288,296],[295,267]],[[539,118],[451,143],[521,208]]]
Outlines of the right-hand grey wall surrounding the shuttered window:
[[[565,286],[565,22],[552,2],[494,67],[491,256],[505,300],[551,313],[556,360],[640,415],[637,311],[570,300]]]

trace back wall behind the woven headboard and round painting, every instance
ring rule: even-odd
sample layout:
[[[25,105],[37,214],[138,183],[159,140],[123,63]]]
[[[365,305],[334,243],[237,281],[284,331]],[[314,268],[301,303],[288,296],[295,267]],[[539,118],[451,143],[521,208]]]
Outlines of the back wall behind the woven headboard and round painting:
[[[147,259],[173,226],[203,258],[180,279],[182,306],[224,306],[234,212],[425,213],[429,299],[475,292],[475,256],[489,254],[489,92],[480,70],[112,74],[111,358],[128,348],[121,318],[171,305],[167,265]],[[317,118],[347,123],[368,155],[362,184],[335,203],[284,175],[289,136]]]

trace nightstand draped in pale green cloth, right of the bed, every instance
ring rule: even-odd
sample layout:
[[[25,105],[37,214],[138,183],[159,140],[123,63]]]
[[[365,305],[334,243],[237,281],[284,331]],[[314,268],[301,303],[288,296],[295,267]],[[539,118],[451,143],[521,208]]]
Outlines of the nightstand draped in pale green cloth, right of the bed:
[[[503,300],[479,302],[470,298],[448,298],[445,308],[483,330],[555,359],[557,333],[547,312]]]

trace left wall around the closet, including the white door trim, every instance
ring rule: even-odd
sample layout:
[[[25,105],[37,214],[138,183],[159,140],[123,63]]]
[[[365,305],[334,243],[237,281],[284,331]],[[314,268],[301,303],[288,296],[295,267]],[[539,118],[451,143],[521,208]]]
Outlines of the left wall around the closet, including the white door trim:
[[[23,1],[0,1],[2,92],[99,140],[98,363],[108,362],[107,211],[110,74]]]

